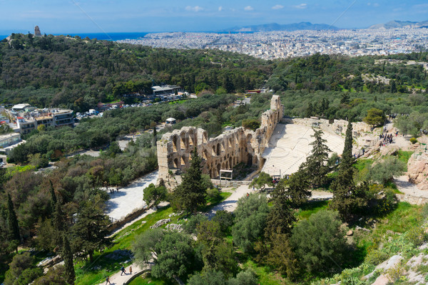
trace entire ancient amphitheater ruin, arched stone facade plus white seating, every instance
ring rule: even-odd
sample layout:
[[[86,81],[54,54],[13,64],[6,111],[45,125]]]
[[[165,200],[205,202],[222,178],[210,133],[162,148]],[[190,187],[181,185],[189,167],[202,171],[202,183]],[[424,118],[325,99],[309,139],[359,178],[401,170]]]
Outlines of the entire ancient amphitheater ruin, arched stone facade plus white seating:
[[[352,123],[357,153],[361,147],[370,147],[375,140],[366,137],[370,126]],[[346,120],[324,120],[319,118],[283,118],[283,105],[278,95],[273,95],[270,110],[263,113],[260,128],[227,130],[215,138],[200,128],[184,127],[165,133],[157,142],[159,178],[175,186],[183,170],[190,165],[190,155],[196,147],[203,157],[203,173],[217,178],[220,170],[233,170],[243,162],[258,171],[283,177],[298,170],[310,155],[313,128],[323,131],[323,138],[331,152],[341,154],[345,142]],[[256,174],[256,173],[254,173]]]

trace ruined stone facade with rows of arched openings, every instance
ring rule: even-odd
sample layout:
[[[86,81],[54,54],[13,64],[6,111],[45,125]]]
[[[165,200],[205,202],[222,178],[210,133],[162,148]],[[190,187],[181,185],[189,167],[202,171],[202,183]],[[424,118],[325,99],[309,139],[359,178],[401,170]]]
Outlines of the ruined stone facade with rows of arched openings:
[[[188,168],[194,147],[203,158],[203,173],[211,178],[218,177],[220,170],[233,169],[240,162],[261,169],[263,150],[282,115],[280,96],[273,95],[270,110],[262,114],[260,128],[255,131],[240,127],[209,139],[205,130],[194,127],[165,133],[157,142],[159,178],[169,180],[170,172],[175,174]]]

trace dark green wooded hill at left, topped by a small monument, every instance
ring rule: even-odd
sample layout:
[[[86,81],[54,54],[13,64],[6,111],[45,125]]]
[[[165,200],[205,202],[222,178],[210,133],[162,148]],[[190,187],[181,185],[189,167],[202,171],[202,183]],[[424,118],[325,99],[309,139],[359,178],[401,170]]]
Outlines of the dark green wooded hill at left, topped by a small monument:
[[[148,91],[152,83],[177,84],[189,92],[260,88],[272,68],[271,62],[238,53],[12,34],[0,42],[0,96],[1,103],[79,111]]]

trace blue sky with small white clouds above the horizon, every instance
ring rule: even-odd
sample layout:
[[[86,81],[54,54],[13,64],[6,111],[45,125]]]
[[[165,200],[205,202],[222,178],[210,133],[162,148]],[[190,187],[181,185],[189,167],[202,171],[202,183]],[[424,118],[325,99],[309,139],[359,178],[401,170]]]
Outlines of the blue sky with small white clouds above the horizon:
[[[0,34],[33,31],[36,25],[42,33],[98,33],[217,31],[300,21],[362,28],[391,20],[428,20],[427,0],[0,0]]]

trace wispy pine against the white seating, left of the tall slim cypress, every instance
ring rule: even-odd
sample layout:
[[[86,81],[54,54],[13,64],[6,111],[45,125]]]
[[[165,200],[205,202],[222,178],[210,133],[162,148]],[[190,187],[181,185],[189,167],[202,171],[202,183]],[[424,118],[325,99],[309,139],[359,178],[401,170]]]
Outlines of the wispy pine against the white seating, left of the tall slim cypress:
[[[312,145],[312,154],[306,159],[306,162],[301,166],[301,169],[307,172],[310,177],[312,187],[320,187],[327,182],[327,174],[330,168],[327,166],[328,152],[330,149],[325,145],[327,140],[322,138],[322,130],[314,130],[312,138],[315,138]]]

